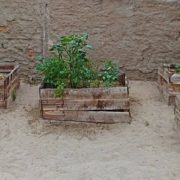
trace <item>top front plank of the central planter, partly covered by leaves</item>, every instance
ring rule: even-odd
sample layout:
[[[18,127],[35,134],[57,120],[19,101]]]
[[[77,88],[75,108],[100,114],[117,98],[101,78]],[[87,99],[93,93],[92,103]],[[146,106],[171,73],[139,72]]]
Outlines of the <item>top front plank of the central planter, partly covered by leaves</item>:
[[[54,89],[40,89],[40,98],[54,98]],[[66,89],[65,99],[118,99],[128,97],[127,87]]]

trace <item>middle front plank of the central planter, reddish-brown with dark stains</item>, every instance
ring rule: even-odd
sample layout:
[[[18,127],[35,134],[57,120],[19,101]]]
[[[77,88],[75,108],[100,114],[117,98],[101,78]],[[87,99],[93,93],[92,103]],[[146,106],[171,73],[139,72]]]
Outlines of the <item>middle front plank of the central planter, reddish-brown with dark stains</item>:
[[[65,99],[41,100],[43,111],[57,110],[129,110],[129,98],[126,99]]]

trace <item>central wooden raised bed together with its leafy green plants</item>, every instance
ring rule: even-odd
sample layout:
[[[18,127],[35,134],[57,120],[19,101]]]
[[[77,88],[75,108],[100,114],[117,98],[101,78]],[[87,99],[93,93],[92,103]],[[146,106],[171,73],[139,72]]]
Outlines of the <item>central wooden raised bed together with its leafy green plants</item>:
[[[40,58],[44,79],[39,90],[40,111],[49,121],[89,123],[130,122],[129,89],[125,72],[106,60],[97,67],[87,50],[88,35],[60,37],[51,55]]]

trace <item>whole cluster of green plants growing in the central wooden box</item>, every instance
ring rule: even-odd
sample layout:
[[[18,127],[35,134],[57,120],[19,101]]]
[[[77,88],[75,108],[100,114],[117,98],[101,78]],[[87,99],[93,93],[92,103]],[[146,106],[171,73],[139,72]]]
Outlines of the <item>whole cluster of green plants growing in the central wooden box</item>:
[[[118,80],[119,68],[111,61],[102,72],[87,58],[87,34],[63,36],[50,49],[51,56],[38,58],[37,71],[44,76],[44,84],[56,88],[55,94],[63,96],[65,88],[106,87]]]

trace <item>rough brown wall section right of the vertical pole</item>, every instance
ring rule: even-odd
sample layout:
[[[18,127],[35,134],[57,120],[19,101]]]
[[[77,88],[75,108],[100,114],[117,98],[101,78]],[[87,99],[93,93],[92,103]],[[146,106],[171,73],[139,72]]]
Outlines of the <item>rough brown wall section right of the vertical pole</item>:
[[[96,61],[112,59],[130,76],[152,77],[158,64],[180,62],[180,2],[51,0],[50,38],[88,32]]]

